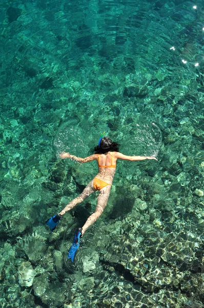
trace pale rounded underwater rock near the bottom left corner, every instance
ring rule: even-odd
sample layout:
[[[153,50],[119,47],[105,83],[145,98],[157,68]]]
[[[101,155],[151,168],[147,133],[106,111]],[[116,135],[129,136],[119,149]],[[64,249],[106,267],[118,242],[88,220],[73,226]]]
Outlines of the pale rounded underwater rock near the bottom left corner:
[[[23,262],[18,267],[18,283],[21,286],[31,286],[36,273],[30,262]]]

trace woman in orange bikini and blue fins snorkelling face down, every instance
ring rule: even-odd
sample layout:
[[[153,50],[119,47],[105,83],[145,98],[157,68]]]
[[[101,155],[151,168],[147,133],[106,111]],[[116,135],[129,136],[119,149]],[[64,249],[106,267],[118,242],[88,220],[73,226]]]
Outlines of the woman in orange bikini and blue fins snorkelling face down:
[[[99,191],[97,206],[95,213],[93,213],[85,222],[82,228],[79,228],[75,234],[73,244],[70,248],[68,258],[71,258],[72,262],[76,253],[76,249],[79,246],[79,237],[84,235],[85,231],[90,227],[98,217],[103,213],[108,198],[110,195],[111,185],[116,170],[117,159],[128,160],[128,161],[140,161],[145,159],[154,159],[153,156],[127,156],[119,152],[119,145],[116,142],[112,142],[110,138],[103,137],[99,139],[98,146],[94,148],[95,153],[86,158],[76,157],[70,155],[70,153],[62,152],[60,158],[66,159],[71,158],[80,163],[87,163],[93,160],[98,162],[98,174],[95,178],[86,186],[83,192],[74,200],[66,205],[66,207],[60,211],[58,215],[51,217],[46,223],[50,226],[51,231],[53,231],[61,219],[61,217],[66,213],[66,211],[72,209],[76,204],[84,201],[89,195],[91,195],[96,190]]]

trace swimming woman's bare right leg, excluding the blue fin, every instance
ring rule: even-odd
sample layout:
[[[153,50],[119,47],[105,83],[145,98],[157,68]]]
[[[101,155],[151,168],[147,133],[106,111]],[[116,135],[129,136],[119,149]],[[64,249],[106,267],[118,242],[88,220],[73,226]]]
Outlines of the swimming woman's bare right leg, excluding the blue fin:
[[[110,191],[111,191],[111,185],[107,185],[104,188],[100,189],[97,200],[96,211],[91,216],[89,216],[85,225],[82,227],[82,233],[81,233],[82,235],[85,233],[88,227],[90,227],[90,225],[92,225],[96,221],[96,219],[98,219],[98,217],[103,213],[108,202]]]

